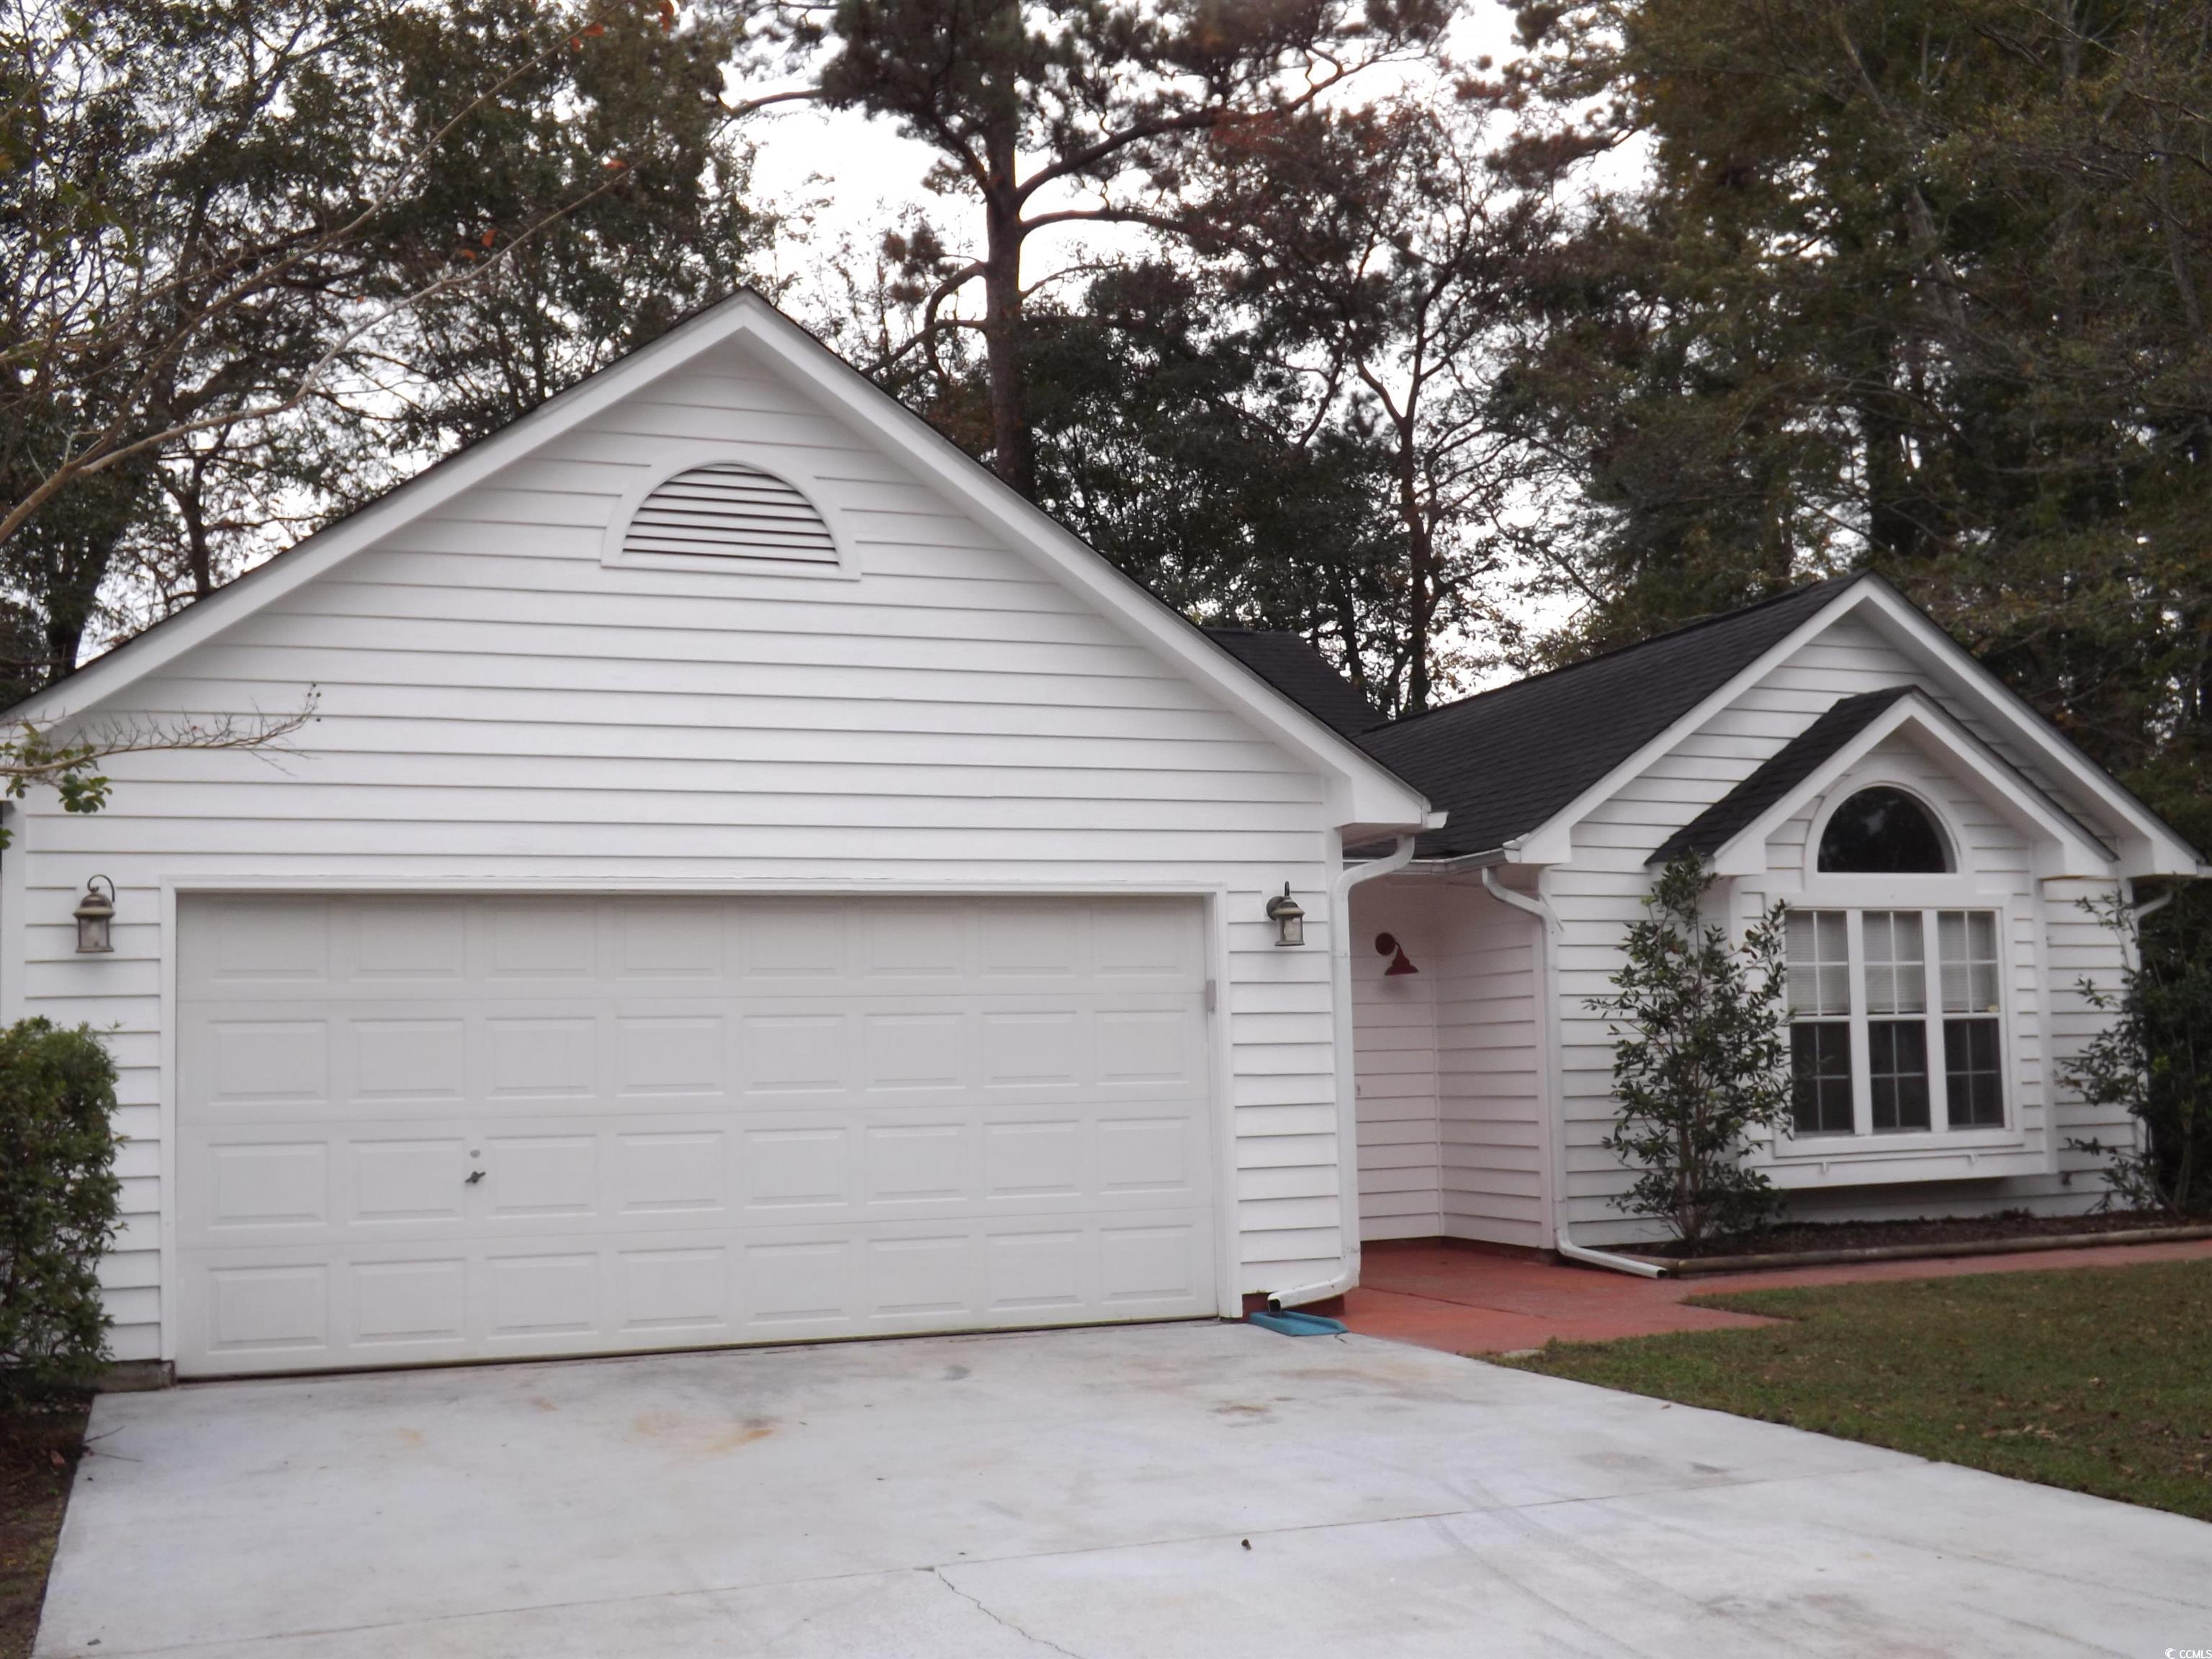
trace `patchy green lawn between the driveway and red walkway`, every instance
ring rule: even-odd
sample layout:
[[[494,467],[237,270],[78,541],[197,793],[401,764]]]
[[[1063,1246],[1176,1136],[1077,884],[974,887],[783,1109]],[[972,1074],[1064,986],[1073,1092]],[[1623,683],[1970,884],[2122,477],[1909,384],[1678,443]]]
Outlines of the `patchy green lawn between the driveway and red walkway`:
[[[1509,1363],[2212,1520],[2212,1261],[1694,1301],[1787,1323]]]

